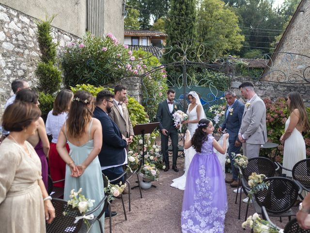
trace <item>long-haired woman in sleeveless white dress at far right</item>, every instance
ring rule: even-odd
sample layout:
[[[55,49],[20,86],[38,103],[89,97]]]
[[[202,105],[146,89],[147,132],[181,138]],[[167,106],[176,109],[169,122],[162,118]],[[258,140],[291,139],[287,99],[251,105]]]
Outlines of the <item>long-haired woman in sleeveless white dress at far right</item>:
[[[298,92],[288,94],[287,104],[291,115],[285,122],[285,132],[280,137],[280,142],[284,144],[283,166],[292,170],[298,161],[306,159],[306,145],[302,132],[307,131],[310,124],[304,102]],[[290,171],[283,169],[282,173],[292,177]]]

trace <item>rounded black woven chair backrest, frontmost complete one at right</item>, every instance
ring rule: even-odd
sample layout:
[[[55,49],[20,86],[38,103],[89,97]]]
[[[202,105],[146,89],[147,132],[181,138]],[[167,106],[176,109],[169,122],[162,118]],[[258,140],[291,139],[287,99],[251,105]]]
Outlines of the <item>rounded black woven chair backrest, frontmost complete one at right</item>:
[[[254,194],[256,202],[270,213],[278,214],[289,210],[298,196],[298,185],[284,177],[271,177],[264,180],[269,182],[268,189]]]

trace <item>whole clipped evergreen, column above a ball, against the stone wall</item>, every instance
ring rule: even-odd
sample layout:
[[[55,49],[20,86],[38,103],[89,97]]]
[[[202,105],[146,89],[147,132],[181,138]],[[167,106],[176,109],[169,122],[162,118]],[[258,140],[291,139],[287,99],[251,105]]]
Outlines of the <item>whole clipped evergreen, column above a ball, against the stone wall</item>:
[[[50,35],[50,24],[54,17],[55,15],[50,19],[36,23],[38,26],[37,39],[42,62],[38,64],[35,74],[39,77],[38,90],[45,94],[54,94],[60,89],[62,83],[62,71],[55,66],[58,44],[52,41],[53,37]]]

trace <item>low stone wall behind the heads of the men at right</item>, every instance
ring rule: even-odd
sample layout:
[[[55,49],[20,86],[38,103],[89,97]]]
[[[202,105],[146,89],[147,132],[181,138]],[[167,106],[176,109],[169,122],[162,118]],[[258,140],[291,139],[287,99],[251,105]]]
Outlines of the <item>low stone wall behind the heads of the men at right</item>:
[[[233,89],[238,96],[238,99],[242,99],[242,95],[239,90],[239,85],[243,82],[250,81],[254,84],[254,91],[256,94],[261,97],[262,99],[264,98],[269,98],[271,100],[277,100],[279,97],[286,98],[288,93],[292,91],[298,91],[302,97],[303,100],[306,104],[306,106],[310,107],[310,92],[309,92],[309,85],[305,84],[282,84],[282,83],[270,83],[270,82],[265,82],[265,81],[253,81],[249,78],[238,78],[234,77],[232,84],[231,84],[231,89]]]

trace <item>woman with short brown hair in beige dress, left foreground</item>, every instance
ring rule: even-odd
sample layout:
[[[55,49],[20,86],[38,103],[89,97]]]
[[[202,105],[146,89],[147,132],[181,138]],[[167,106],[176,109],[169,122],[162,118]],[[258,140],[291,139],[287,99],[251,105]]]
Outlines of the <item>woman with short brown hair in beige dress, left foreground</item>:
[[[2,116],[10,131],[0,145],[0,232],[45,233],[55,209],[41,176],[41,162],[27,138],[36,132],[40,109],[16,101]]]

